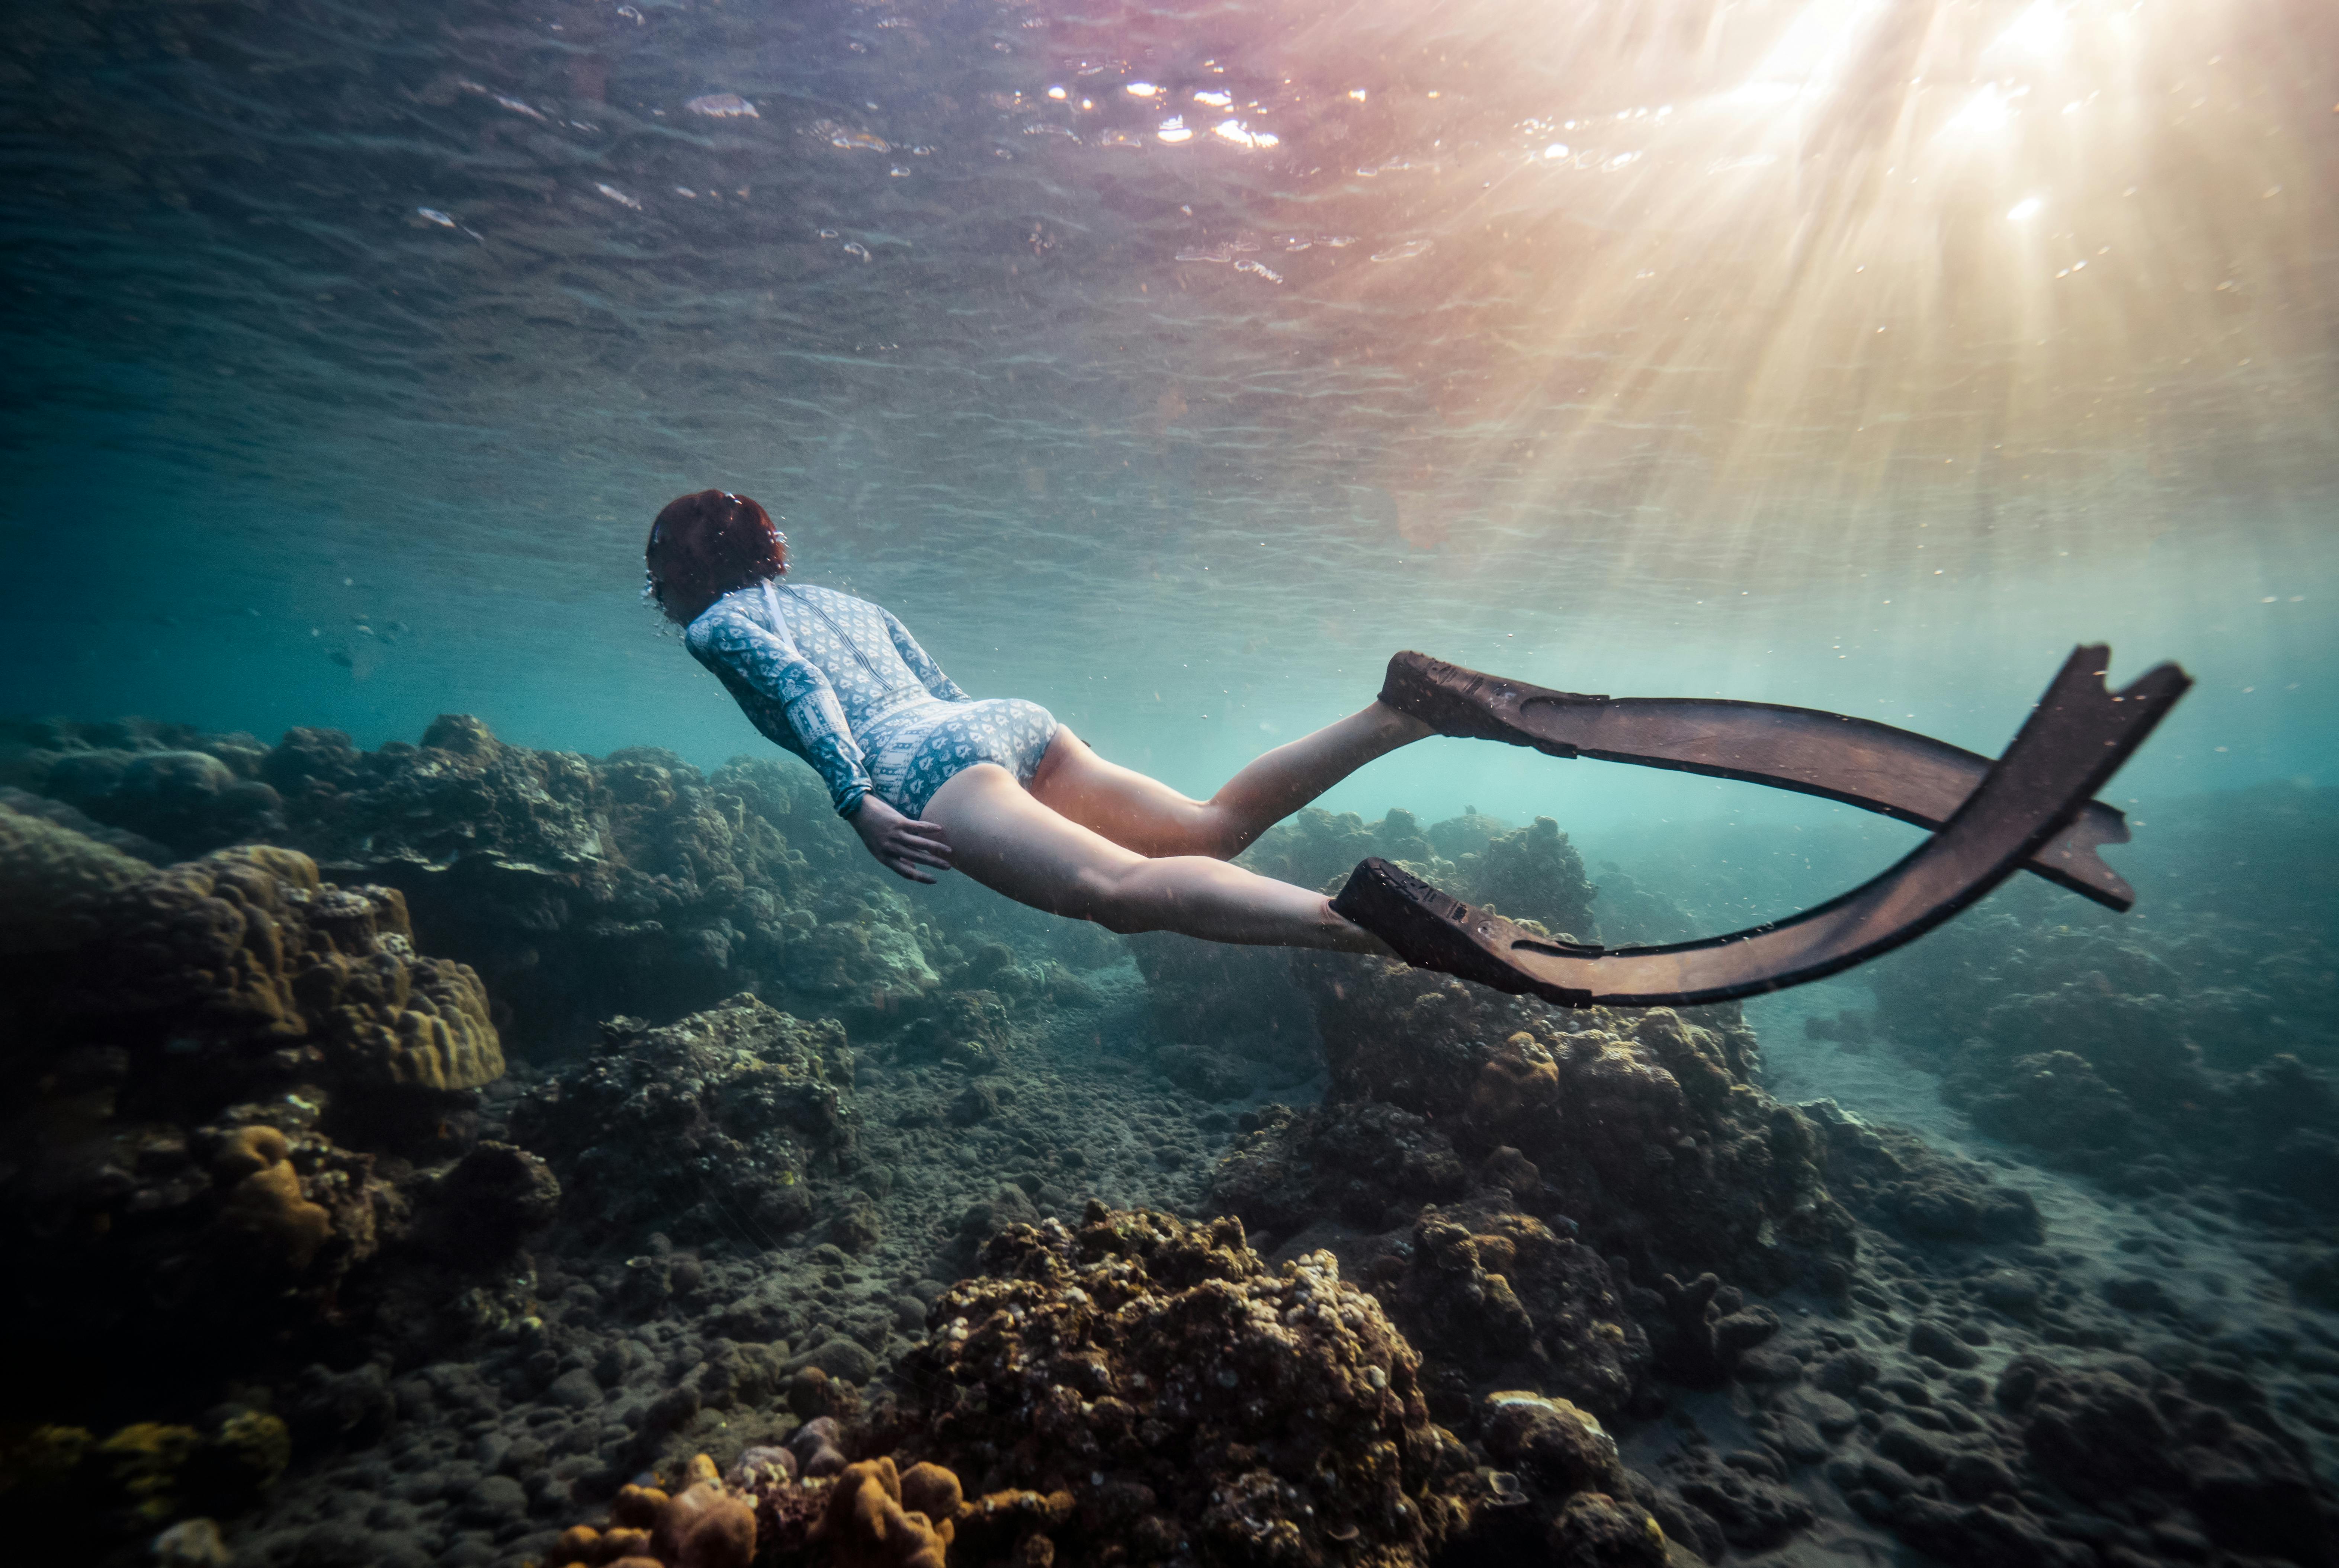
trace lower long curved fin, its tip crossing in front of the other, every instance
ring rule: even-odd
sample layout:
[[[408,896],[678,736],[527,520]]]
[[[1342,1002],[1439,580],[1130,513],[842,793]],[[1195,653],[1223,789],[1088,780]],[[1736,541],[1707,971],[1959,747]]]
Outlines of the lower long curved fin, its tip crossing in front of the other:
[[[1871,882],[1789,920],[1663,948],[1598,948],[1474,910],[1378,857],[1357,866],[1333,910],[1417,969],[1562,1006],[1682,1006],[1820,981],[1916,941],[2023,866],[2037,868],[2040,847],[2089,810],[2192,686],[2175,665],[2157,665],[2112,693],[2107,665],[2110,648],[2077,648],[2007,754],[1983,768],[1932,838]]]

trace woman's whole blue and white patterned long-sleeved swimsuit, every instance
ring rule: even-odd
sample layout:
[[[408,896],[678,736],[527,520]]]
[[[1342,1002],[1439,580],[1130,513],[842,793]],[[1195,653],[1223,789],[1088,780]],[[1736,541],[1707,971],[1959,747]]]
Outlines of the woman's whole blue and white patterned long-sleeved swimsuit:
[[[870,791],[922,817],[975,763],[1029,784],[1055,740],[1055,714],[1039,702],[968,697],[891,611],[833,587],[741,587],[683,641],[758,730],[814,765],[840,817]]]

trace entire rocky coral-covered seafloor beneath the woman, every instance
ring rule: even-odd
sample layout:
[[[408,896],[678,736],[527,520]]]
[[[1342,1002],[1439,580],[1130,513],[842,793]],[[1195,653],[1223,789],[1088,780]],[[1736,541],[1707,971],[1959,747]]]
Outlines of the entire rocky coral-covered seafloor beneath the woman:
[[[912,889],[788,761],[0,725],[0,1493],[87,1563],[2327,1563],[2334,922],[2236,866],[2332,824],[1562,1011]],[[1693,924],[1548,819],[1249,859],[1364,854]]]

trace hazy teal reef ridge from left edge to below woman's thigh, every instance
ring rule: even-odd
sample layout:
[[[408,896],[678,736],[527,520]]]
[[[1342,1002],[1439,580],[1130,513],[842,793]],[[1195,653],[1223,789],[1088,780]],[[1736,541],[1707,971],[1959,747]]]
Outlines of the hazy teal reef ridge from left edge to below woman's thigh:
[[[1008,953],[987,971],[999,995],[1078,1006],[1071,971],[1120,957],[1104,931],[1060,934],[980,889],[924,889],[912,908],[819,782],[774,758],[711,777],[655,747],[594,761],[510,747],[465,714],[377,751],[339,730],[264,747],[145,721],[19,721],[0,730],[0,782],[21,814],[110,824],[133,857],[157,859],[136,833],[168,854],[269,843],[339,882],[398,889],[421,945],[484,976],[517,1048],[578,1046],[603,1018],[664,1023],[741,990],[889,1030],[945,983],[971,990],[980,955],[1008,953],[1001,938],[1060,957],[1017,967]]]

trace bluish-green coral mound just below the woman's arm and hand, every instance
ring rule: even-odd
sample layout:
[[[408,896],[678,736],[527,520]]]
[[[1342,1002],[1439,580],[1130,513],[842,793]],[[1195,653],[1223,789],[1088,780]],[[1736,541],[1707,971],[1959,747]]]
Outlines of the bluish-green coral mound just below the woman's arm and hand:
[[[847,1020],[915,1013],[938,983],[940,945],[840,843],[851,835],[809,775],[777,761],[709,779],[655,747],[596,763],[449,714],[419,747],[372,754],[292,730],[264,770],[292,843],[405,889],[526,1039],[578,1039],[620,1011],[674,1018],[744,988]]]

